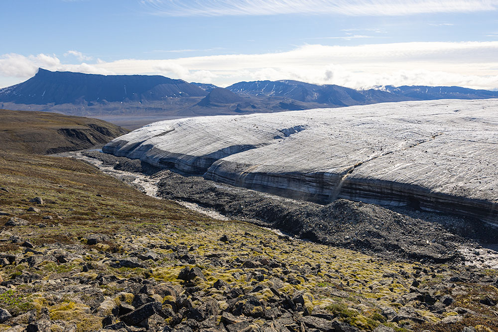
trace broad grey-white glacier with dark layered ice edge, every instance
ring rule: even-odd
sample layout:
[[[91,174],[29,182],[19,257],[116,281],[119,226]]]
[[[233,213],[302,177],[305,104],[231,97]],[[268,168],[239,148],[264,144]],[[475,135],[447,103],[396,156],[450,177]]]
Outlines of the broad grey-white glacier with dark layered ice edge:
[[[103,151],[284,197],[498,221],[498,99],[159,121]]]

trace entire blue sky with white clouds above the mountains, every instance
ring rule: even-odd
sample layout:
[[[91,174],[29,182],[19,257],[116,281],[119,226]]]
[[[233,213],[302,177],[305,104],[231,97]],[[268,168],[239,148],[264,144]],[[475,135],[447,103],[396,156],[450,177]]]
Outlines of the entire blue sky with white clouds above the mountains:
[[[498,88],[498,1],[1,0],[0,24],[0,87],[43,67]]]

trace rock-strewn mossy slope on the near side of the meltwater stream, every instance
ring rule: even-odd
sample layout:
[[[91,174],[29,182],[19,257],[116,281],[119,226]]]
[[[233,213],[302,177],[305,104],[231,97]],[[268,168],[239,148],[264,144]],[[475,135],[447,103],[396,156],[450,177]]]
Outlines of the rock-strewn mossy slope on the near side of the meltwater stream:
[[[0,185],[1,331],[498,329],[495,269],[214,220],[68,158],[0,152]]]

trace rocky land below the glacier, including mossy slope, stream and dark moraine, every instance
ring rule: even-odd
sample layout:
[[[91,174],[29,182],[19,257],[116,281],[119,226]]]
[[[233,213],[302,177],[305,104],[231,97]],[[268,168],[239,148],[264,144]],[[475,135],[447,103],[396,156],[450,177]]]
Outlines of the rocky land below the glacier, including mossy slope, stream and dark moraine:
[[[0,150],[0,332],[498,331],[480,221],[24,151]]]

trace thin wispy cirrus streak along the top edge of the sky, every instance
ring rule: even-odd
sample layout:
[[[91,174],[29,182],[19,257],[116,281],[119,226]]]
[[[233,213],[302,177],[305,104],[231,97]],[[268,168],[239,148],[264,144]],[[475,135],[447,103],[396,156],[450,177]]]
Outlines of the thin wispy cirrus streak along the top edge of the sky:
[[[342,14],[350,16],[497,10],[494,0],[140,0],[166,16]]]

